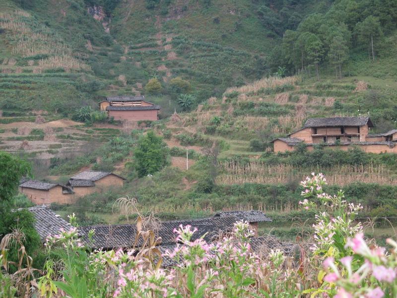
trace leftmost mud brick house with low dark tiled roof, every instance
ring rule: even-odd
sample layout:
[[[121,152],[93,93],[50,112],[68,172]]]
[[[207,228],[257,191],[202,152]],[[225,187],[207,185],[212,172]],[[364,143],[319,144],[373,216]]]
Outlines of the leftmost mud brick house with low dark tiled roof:
[[[25,194],[34,204],[70,204],[74,202],[71,188],[58,183],[25,180],[19,185],[19,192]]]

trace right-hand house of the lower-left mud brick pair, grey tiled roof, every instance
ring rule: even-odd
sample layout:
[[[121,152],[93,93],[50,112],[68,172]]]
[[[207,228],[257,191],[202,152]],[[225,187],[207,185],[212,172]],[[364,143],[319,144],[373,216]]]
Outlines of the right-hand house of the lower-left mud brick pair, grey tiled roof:
[[[124,180],[126,179],[111,172],[86,170],[70,177],[66,185],[76,197],[81,197],[109,187],[122,187]]]

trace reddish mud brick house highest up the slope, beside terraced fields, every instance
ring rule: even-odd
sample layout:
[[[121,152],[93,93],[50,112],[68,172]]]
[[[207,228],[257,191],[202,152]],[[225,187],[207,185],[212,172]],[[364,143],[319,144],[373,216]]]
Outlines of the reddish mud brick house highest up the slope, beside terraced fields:
[[[101,111],[107,111],[109,117],[121,121],[158,120],[160,106],[139,96],[107,96],[99,103]]]

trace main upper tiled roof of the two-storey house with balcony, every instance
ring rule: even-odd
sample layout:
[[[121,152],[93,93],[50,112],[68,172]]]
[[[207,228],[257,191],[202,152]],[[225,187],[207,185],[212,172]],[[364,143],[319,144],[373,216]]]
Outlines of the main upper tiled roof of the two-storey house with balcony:
[[[332,126],[364,126],[373,127],[369,117],[332,117],[310,118],[305,123],[307,127],[332,127]]]

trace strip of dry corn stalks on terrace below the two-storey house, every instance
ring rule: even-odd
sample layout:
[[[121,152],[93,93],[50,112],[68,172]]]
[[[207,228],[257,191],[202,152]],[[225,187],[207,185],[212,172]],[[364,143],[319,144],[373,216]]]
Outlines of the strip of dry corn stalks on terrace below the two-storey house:
[[[267,165],[260,161],[251,161],[248,164],[235,164],[232,162],[219,163],[219,168],[224,173],[217,177],[219,184],[261,183],[277,184],[290,181],[300,181],[307,176],[307,170],[291,165]],[[356,181],[364,183],[378,183],[397,185],[397,178],[393,178],[384,165],[338,165],[325,171],[329,184],[343,186]]]

